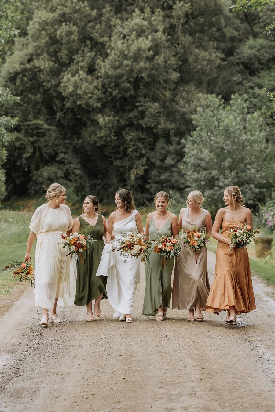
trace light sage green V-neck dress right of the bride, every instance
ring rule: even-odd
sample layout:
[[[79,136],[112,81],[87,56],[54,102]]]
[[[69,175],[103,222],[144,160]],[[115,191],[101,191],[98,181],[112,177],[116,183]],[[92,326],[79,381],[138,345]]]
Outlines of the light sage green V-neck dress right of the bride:
[[[172,236],[171,218],[165,225],[157,230],[153,216],[149,222],[150,240],[156,240],[160,236]],[[143,302],[142,314],[145,316],[154,316],[157,314],[158,307],[170,307],[172,294],[171,276],[174,267],[174,258],[166,259],[166,265],[162,267],[163,256],[152,251],[150,253],[150,263],[146,262],[145,266],[145,296]]]

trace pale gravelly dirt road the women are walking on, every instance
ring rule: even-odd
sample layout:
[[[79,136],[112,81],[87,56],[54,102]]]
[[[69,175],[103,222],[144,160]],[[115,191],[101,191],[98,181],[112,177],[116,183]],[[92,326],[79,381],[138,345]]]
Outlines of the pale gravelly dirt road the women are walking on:
[[[100,320],[73,306],[41,327],[23,287],[0,302],[0,411],[275,411],[275,290],[253,284],[257,310],[237,326],[225,312],[201,322],[171,309],[163,322],[142,316],[143,264],[133,323],[112,320],[104,300]]]

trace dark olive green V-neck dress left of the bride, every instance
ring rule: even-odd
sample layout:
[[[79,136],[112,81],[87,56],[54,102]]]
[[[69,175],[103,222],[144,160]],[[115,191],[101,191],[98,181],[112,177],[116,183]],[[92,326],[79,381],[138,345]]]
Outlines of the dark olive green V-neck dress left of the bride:
[[[76,306],[85,306],[91,300],[99,297],[101,293],[103,293],[102,299],[107,298],[107,276],[95,276],[105,246],[103,241],[104,226],[102,215],[99,215],[94,226],[81,216],[78,216],[78,219],[80,229],[85,229],[85,234],[89,234],[95,241],[89,246],[89,252],[87,250],[84,261],[81,263],[81,259],[79,259],[76,263],[75,304]]]

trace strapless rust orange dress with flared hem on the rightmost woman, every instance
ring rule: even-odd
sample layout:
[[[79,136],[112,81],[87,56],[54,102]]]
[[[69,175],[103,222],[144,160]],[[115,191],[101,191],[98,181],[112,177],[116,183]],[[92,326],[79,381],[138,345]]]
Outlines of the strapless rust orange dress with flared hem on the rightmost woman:
[[[244,226],[243,222],[223,219],[221,234],[228,236],[229,230]],[[215,276],[206,302],[206,311],[219,314],[221,310],[235,307],[237,315],[256,309],[247,248],[232,248],[218,243]]]

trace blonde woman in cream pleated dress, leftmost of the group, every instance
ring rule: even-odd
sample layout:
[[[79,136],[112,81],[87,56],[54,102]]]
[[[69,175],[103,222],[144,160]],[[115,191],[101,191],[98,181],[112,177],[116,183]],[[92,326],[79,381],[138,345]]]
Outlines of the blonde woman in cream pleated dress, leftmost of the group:
[[[25,261],[30,262],[31,248],[35,249],[35,305],[42,307],[40,325],[50,321],[60,323],[56,306],[68,307],[75,297],[73,262],[66,256],[60,240],[69,235],[73,225],[70,208],[65,205],[66,189],[58,183],[50,185],[45,194],[48,203],[33,213],[30,224]]]

